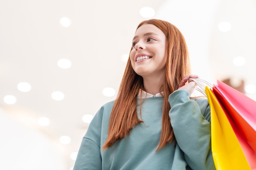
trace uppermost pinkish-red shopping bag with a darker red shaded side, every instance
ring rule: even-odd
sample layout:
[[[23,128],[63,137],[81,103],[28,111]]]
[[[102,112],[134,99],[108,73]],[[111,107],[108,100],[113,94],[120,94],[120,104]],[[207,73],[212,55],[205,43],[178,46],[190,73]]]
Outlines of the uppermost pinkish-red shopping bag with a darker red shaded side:
[[[256,101],[221,81],[213,87],[213,94],[256,153]]]

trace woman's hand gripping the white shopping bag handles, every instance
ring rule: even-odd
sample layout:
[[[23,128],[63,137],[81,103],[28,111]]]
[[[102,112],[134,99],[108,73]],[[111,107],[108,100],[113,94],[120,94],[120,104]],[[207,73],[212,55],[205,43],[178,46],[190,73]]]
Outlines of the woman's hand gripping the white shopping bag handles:
[[[195,75],[195,74],[186,75],[180,82],[179,88],[177,90],[186,90],[189,92],[189,94],[192,94],[197,84],[194,81],[190,81],[189,83],[187,83],[189,78],[199,78],[199,77],[198,75]]]

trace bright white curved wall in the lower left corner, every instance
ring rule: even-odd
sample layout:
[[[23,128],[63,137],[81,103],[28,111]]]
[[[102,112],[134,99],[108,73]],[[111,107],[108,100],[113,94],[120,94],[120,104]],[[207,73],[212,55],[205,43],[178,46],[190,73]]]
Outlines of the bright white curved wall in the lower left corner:
[[[0,162],[2,170],[67,170],[51,140],[13,120],[1,108]]]

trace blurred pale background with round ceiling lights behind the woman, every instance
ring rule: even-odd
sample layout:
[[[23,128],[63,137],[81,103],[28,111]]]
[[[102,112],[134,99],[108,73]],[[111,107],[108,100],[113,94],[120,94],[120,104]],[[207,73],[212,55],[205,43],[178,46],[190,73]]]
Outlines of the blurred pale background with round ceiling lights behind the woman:
[[[180,29],[194,74],[256,100],[256,0],[0,0],[1,169],[72,170],[150,18]]]

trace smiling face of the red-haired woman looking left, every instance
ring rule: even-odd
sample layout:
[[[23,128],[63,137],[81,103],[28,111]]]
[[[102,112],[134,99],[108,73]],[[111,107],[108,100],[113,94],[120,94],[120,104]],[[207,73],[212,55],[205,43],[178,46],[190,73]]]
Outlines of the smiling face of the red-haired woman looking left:
[[[133,70],[143,78],[163,76],[166,56],[164,33],[152,24],[140,26],[132,40],[130,52]]]

